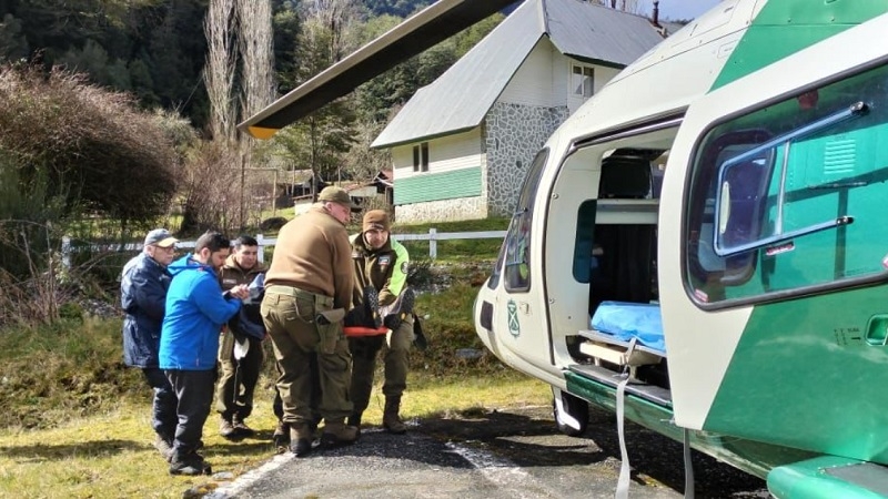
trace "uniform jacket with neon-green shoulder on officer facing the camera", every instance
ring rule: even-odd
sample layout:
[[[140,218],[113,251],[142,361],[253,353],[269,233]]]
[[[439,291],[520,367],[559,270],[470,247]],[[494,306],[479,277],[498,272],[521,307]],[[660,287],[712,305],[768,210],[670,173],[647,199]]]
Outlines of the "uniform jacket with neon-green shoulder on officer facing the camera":
[[[351,242],[355,275],[352,299],[355,306],[363,302],[364,287],[367,285],[373,285],[380,292],[380,305],[391,305],[407,284],[407,248],[390,235],[381,248],[371,252],[363,232],[353,235]]]

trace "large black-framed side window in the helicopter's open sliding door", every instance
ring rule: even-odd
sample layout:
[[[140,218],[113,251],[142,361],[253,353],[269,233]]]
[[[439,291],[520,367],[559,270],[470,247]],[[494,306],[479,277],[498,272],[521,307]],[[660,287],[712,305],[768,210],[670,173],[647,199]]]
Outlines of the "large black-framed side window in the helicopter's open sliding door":
[[[884,273],[888,67],[712,129],[690,174],[687,286],[749,301]],[[787,293],[789,292],[789,293]]]

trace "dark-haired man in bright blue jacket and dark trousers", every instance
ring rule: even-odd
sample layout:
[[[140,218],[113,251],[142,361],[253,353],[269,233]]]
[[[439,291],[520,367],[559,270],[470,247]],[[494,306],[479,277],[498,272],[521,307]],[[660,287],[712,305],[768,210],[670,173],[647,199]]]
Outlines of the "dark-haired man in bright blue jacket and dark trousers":
[[[229,240],[218,232],[198,238],[194,253],[173,262],[167,292],[167,315],[160,335],[160,367],[179,399],[172,475],[210,475],[211,468],[198,454],[203,424],[210,415],[215,384],[219,332],[241,308],[245,285],[225,292],[216,273],[231,251]]]

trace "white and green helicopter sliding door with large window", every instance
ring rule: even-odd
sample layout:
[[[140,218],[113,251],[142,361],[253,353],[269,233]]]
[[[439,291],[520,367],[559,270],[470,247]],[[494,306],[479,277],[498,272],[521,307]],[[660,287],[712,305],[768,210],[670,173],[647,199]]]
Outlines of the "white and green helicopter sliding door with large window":
[[[658,242],[679,426],[888,462],[887,26],[688,109]]]

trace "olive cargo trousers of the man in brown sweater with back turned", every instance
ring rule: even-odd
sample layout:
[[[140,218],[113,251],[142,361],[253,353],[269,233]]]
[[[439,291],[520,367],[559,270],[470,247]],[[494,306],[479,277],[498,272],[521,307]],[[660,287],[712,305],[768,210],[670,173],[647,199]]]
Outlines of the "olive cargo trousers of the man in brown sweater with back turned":
[[[283,400],[283,421],[291,427],[312,421],[312,353],[317,354],[321,416],[330,424],[342,422],[352,414],[352,359],[342,323],[320,326],[316,322],[317,315],[332,306],[333,298],[327,296],[289,286],[265,288],[262,319],[281,368],[278,390]]]

